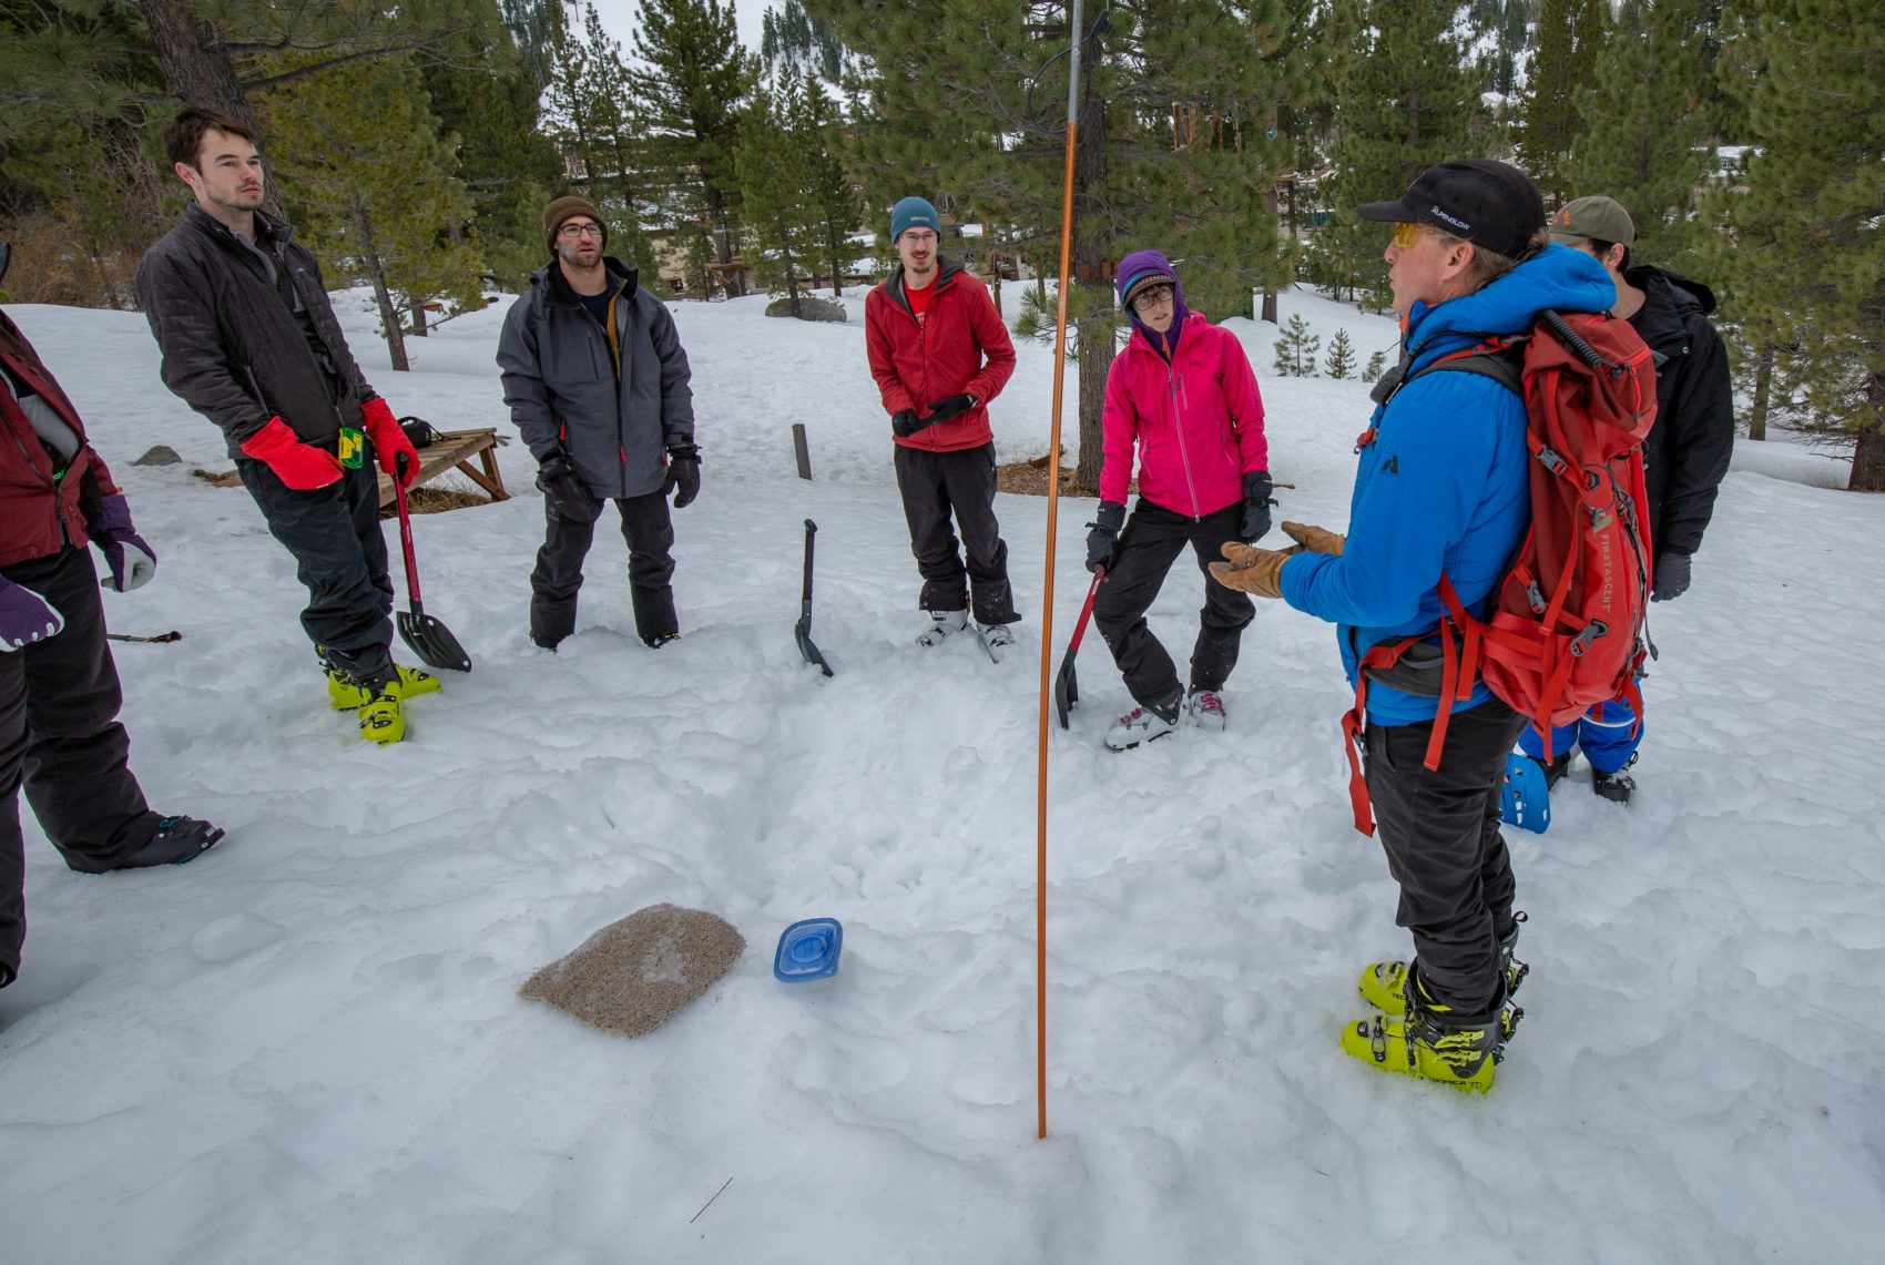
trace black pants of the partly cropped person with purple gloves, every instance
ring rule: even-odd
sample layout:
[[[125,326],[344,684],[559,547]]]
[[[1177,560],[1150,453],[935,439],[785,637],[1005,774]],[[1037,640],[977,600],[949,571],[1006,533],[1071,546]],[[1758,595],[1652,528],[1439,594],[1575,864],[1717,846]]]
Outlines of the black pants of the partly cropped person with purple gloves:
[[[45,641],[0,654],[0,963],[26,939],[26,845],[19,792],[66,865],[113,869],[151,843],[158,814],[130,773],[117,665],[89,549],[4,569],[66,618]]]

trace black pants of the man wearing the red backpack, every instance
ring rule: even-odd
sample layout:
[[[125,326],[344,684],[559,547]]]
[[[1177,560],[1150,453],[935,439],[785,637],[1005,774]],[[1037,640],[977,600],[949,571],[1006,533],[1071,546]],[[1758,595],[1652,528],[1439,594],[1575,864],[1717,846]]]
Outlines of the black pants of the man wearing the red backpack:
[[[1414,933],[1434,1001],[1483,1014],[1500,997],[1499,941],[1512,928],[1512,858],[1499,831],[1499,782],[1525,716],[1499,699],[1453,713],[1440,767],[1427,769],[1433,720],[1369,724],[1367,779],[1395,922]]]

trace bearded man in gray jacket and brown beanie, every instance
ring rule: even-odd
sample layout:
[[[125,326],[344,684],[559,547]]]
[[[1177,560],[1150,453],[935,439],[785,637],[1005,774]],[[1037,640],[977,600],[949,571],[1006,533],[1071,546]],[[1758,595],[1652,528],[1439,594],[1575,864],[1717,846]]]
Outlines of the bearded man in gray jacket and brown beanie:
[[[530,639],[547,650],[575,632],[582,558],[603,501],[628,541],[635,632],[648,647],[680,635],[671,549],[675,509],[701,486],[688,354],[660,298],[609,258],[609,226],[588,202],[543,211],[550,262],[503,319],[503,400],[537,458],[547,532],[530,573]]]

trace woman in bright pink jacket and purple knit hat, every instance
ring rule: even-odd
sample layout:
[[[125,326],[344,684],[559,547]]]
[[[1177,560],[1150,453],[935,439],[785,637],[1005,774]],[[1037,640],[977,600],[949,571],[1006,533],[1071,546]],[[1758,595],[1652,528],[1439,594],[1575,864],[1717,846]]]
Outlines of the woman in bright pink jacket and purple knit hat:
[[[1165,737],[1182,718],[1223,728],[1223,682],[1255,605],[1212,584],[1205,567],[1221,558],[1225,541],[1252,543],[1269,532],[1274,501],[1263,398],[1242,343],[1186,309],[1178,277],[1157,251],[1127,255],[1118,288],[1133,336],[1106,375],[1106,462],[1086,569],[1106,569],[1093,620],[1139,703],[1106,733],[1106,747],[1125,750]],[[1127,522],[1135,449],[1139,505]],[[1146,626],[1146,611],[1188,543],[1205,577],[1189,690]]]

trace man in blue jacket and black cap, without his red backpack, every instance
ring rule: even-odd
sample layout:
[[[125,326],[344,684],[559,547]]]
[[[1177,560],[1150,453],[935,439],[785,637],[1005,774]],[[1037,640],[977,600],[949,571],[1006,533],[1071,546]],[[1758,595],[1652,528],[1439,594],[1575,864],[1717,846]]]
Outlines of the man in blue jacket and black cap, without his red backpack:
[[[1395,226],[1387,283],[1404,336],[1399,368],[1376,386],[1348,535],[1286,522],[1293,549],[1231,543],[1229,562],[1212,564],[1233,588],[1333,620],[1352,684],[1376,643],[1436,630],[1442,573],[1483,615],[1531,520],[1519,396],[1483,373],[1423,371],[1487,334],[1523,334],[1546,307],[1602,311],[1615,300],[1597,260],[1549,245],[1544,200],[1502,162],[1442,162],[1359,215]],[[1438,694],[1370,671],[1367,786],[1416,958],[1361,973],[1378,1012],[1350,1024],[1342,1048],[1382,1071],[1483,1092],[1521,973],[1499,777],[1525,720],[1478,682],[1453,703],[1440,767],[1427,769]]]

